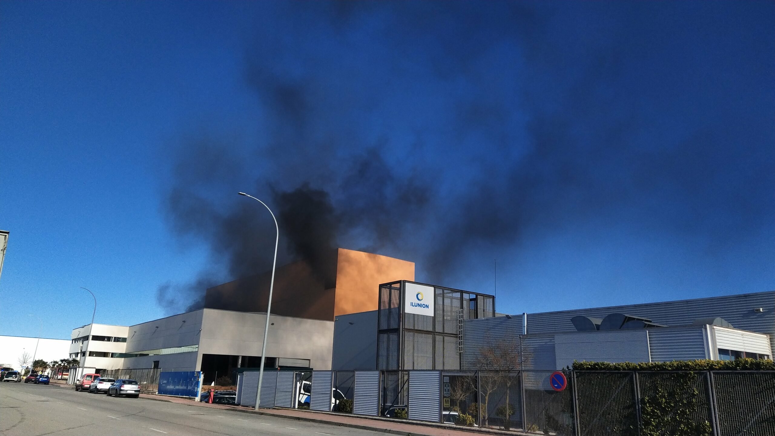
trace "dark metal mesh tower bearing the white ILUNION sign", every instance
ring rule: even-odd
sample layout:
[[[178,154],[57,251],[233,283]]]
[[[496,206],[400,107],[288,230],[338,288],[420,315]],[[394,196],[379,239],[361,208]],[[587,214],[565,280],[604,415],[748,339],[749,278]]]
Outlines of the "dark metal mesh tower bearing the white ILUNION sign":
[[[432,297],[432,315],[407,312],[418,297]],[[377,313],[377,369],[460,369],[464,321],[494,316],[491,295],[406,280],[384,283]]]

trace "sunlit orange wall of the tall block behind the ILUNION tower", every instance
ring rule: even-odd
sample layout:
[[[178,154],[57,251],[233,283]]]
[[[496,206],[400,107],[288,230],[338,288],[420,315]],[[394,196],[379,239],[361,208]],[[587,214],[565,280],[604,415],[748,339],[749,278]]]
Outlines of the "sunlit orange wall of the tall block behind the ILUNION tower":
[[[415,280],[415,262],[339,248],[334,316],[377,310],[379,285]]]

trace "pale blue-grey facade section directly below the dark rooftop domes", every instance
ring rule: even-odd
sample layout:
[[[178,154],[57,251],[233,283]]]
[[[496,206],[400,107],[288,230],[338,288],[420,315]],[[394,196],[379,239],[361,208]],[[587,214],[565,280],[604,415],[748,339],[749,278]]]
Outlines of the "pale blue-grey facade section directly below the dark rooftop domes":
[[[649,362],[645,329],[575,332],[554,336],[555,369],[590,362]]]

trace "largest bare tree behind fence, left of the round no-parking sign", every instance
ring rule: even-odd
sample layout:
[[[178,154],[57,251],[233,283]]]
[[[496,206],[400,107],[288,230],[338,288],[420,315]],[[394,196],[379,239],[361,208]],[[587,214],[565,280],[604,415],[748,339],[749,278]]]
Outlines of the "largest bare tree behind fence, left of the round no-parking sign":
[[[490,396],[496,390],[505,389],[505,404],[503,407],[504,428],[510,428],[509,417],[513,414],[514,407],[511,404],[511,390],[518,383],[516,371],[522,369],[522,365],[528,362],[527,355],[522,355],[518,337],[503,337],[496,341],[487,338],[487,344],[479,348],[479,355],[475,365],[479,370],[479,388],[484,395],[482,417],[484,425],[489,424],[488,405]]]

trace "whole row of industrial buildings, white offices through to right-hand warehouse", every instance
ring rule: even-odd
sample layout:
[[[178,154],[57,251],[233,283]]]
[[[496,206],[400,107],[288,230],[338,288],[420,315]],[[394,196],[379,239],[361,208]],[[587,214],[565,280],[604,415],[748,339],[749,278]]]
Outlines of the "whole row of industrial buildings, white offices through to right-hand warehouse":
[[[341,248],[332,259],[323,270],[277,268],[268,367],[464,371],[508,344],[515,368],[555,370],[574,360],[771,358],[775,345],[775,292],[498,316],[494,296],[414,282],[412,262]],[[71,357],[81,372],[201,370],[205,382],[255,368],[269,277],[207,289],[204,309],[78,327]]]

